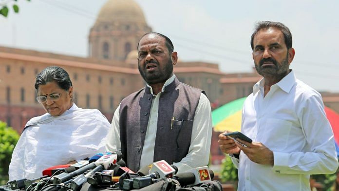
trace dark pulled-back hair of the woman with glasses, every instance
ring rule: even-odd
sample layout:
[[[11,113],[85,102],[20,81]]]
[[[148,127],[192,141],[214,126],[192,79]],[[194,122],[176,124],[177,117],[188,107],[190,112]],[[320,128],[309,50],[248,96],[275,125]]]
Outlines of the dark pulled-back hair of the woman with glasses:
[[[58,67],[58,66],[49,66],[43,69],[36,77],[36,83],[34,84],[35,89],[38,91],[40,85],[45,85],[48,82],[57,82],[57,85],[68,91],[72,86],[72,81],[68,73]]]

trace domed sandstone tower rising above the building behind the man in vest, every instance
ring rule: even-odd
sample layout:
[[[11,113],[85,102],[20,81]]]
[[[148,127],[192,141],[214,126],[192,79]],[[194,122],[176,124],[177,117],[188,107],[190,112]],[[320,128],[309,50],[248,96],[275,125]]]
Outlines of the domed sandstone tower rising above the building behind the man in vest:
[[[152,29],[133,0],[108,0],[89,35],[89,57],[125,60],[139,39]]]

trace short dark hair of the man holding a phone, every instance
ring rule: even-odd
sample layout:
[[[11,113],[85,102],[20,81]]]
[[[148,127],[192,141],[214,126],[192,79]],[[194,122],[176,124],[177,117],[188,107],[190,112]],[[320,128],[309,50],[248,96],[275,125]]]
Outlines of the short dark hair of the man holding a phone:
[[[277,28],[279,29],[282,34],[283,34],[283,38],[285,39],[285,44],[286,44],[286,47],[287,47],[287,50],[292,48],[292,34],[290,32],[290,30],[288,29],[287,26],[285,26],[284,24],[282,24],[281,22],[272,22],[272,21],[260,21],[260,22],[257,22],[256,25],[255,25],[255,29],[254,29],[254,32],[252,34],[252,37],[251,37],[251,47],[252,47],[252,50],[253,50],[253,39],[254,39],[254,36],[262,29],[269,29],[269,28]]]

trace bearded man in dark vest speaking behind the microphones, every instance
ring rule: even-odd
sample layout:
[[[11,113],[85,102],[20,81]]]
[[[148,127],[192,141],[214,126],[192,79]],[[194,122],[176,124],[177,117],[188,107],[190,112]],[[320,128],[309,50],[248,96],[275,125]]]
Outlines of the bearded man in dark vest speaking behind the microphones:
[[[146,85],[121,101],[106,145],[121,150],[132,171],[163,159],[179,172],[208,163],[210,103],[204,91],[173,74],[177,61],[168,37],[152,32],[140,39],[138,67]]]

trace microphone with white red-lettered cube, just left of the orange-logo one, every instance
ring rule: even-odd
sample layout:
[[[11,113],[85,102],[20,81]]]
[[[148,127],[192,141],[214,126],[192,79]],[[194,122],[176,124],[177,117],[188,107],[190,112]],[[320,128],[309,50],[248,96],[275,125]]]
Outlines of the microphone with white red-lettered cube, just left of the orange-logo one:
[[[178,168],[174,165],[169,165],[169,163],[165,160],[161,160],[153,163],[150,173],[151,172],[158,172],[160,178],[171,178],[176,172],[178,172]]]

